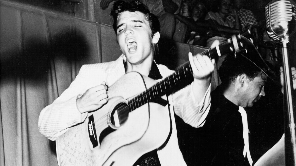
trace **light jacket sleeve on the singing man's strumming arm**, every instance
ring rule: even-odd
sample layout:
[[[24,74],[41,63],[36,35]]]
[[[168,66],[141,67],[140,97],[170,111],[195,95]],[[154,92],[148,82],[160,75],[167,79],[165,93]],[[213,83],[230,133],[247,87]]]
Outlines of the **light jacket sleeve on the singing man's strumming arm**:
[[[71,126],[82,123],[86,119],[87,112],[81,114],[78,111],[76,99],[92,86],[87,83],[90,77],[87,69],[88,66],[83,65],[69,88],[52,104],[42,109],[38,120],[38,130],[46,138],[54,141]]]

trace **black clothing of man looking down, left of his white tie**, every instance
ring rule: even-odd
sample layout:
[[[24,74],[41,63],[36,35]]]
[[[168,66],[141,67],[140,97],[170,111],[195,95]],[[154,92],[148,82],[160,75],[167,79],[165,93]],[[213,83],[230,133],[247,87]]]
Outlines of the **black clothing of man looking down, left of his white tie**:
[[[180,118],[179,123],[176,122],[179,147],[187,165],[249,165],[243,156],[239,107],[223,96],[219,86],[211,96],[212,105],[202,128],[193,128],[184,122],[180,125]]]

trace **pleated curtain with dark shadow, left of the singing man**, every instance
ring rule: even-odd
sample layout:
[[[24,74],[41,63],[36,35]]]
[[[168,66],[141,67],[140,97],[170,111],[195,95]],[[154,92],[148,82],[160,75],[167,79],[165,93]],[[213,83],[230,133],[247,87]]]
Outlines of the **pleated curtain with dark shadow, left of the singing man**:
[[[120,55],[113,29],[8,1],[0,1],[0,27],[0,165],[57,165],[39,113],[83,64]]]

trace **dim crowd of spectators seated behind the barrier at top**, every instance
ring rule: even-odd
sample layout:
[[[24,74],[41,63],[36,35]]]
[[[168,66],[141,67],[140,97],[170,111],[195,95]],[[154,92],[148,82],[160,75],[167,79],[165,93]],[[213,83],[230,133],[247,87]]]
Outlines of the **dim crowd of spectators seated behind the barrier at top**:
[[[102,0],[104,10],[112,1]],[[133,0],[125,0],[133,1]],[[213,41],[225,41],[234,34],[253,31],[254,40],[265,48],[275,47],[246,0],[141,0],[160,21],[160,38],[210,47]]]

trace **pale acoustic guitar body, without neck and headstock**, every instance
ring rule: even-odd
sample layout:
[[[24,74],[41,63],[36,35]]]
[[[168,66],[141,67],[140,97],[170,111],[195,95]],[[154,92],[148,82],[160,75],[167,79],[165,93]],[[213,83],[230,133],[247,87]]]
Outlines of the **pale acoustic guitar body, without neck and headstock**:
[[[137,72],[130,72],[109,87],[107,104],[89,113],[84,123],[71,127],[57,139],[59,165],[128,166],[143,154],[162,146],[171,130],[169,104],[143,104],[125,112],[123,115],[128,117],[124,120],[121,120],[120,111],[118,116],[117,113],[112,114],[114,108],[125,103],[126,99],[145,91],[145,84],[149,88],[155,82],[148,77],[142,78]],[[167,100],[165,96],[162,98]],[[115,117],[115,122],[112,122],[112,117]]]

